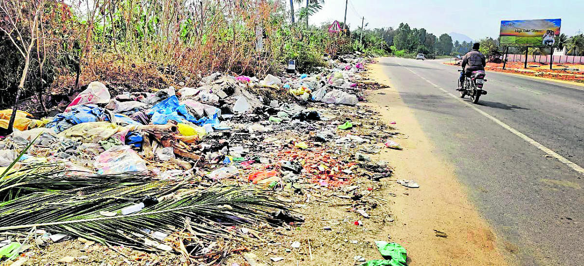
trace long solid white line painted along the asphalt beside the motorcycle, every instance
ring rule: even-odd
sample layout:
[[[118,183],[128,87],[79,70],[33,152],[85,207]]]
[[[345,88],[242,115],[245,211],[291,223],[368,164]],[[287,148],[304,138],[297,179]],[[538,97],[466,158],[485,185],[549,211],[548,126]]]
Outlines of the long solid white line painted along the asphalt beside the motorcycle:
[[[399,64],[399,63],[398,63]],[[486,118],[489,118],[490,120],[492,120],[493,122],[499,124],[501,127],[507,129],[508,131],[510,131],[511,133],[519,136],[519,138],[522,138],[524,141],[527,141],[527,143],[530,143],[533,146],[536,146],[536,148],[542,150],[543,152],[547,153],[548,155],[554,157],[555,159],[559,160],[559,162],[562,162],[564,164],[566,164],[567,166],[569,166],[570,168],[572,168],[574,171],[577,171],[580,174],[584,175],[584,168],[582,168],[581,166],[579,166],[576,163],[573,163],[571,160],[566,159],[566,157],[559,155],[558,153],[554,152],[553,150],[551,150],[550,148],[547,148],[546,146],[542,145],[541,143],[535,141],[534,139],[530,138],[529,136],[526,136],[525,134],[523,134],[522,132],[519,132],[517,129],[510,127],[509,125],[505,124],[504,122],[498,120],[497,118],[493,117],[490,114],[485,113],[485,111],[482,111],[481,109],[475,107],[474,105],[468,103],[468,101],[463,100],[461,97],[458,97],[456,95],[453,95],[452,93],[448,92],[448,90],[432,83],[431,81],[427,80],[426,78],[424,78],[423,76],[420,76],[418,73],[413,72],[412,69],[409,69],[408,67],[404,67],[404,65],[401,65],[401,67],[408,69],[409,72],[412,72],[413,74],[415,74],[416,76],[419,76],[420,78],[422,78],[423,80],[425,80],[426,82],[430,83],[432,86],[442,90],[443,92],[445,92],[447,95],[452,96],[454,99],[457,99],[458,101],[460,101],[461,103],[466,104],[468,107],[471,107],[472,110],[477,111],[479,114],[484,115]]]

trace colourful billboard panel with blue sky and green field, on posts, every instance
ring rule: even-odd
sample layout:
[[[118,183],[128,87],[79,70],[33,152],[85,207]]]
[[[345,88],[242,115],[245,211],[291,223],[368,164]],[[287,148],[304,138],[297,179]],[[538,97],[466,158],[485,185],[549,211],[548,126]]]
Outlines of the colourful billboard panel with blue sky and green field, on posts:
[[[502,20],[499,46],[555,47],[561,19]]]

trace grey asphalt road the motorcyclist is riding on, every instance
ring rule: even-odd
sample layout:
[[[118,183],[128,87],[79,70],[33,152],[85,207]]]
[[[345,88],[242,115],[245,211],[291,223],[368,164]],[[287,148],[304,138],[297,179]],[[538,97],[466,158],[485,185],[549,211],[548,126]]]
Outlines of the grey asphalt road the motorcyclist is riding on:
[[[584,167],[584,87],[487,72],[475,110],[452,96],[456,67],[380,64],[513,264],[584,265],[584,174],[574,170]]]

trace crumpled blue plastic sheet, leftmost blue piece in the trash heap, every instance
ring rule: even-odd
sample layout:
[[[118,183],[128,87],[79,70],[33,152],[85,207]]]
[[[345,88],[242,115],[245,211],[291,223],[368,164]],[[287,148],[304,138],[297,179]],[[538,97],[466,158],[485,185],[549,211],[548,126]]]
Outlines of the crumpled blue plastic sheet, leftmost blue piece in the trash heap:
[[[105,110],[96,104],[83,104],[71,108],[67,113],[55,115],[53,121],[45,127],[53,128],[58,133],[77,124],[98,121],[110,121]]]

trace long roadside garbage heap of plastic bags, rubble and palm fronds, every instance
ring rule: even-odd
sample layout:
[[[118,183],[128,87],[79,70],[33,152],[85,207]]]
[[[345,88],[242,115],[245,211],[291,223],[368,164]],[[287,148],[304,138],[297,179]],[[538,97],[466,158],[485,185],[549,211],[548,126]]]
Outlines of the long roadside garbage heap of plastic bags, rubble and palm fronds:
[[[62,233],[213,263],[241,247],[230,240],[259,239],[259,225],[301,225],[279,191],[391,176],[370,156],[401,149],[397,133],[357,106],[364,62],[116,96],[95,81],[54,117],[19,111],[0,140],[0,257]],[[0,126],[10,114],[0,111]]]

